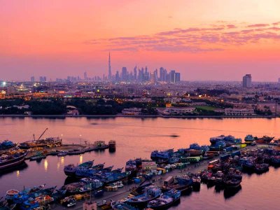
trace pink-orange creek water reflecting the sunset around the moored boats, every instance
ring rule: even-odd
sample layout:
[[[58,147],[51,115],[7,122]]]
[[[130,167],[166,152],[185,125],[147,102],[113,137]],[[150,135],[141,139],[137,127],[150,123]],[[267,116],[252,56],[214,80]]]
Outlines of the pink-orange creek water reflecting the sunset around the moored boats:
[[[66,179],[63,168],[69,163],[94,160],[106,166],[124,167],[130,158],[149,158],[151,151],[166,148],[186,148],[196,142],[209,144],[209,138],[232,134],[244,139],[246,134],[280,137],[280,119],[228,118],[228,119],[177,119],[177,118],[0,118],[0,139],[23,142],[38,138],[48,127],[44,137],[62,136],[64,143],[79,144],[97,140],[117,142],[116,153],[91,152],[64,158],[48,156],[41,162],[29,162],[27,167],[0,175],[0,197],[10,188],[46,183],[62,186]],[[170,137],[177,134],[179,137]],[[181,204],[172,209],[279,209],[280,169],[269,168],[262,175],[246,175],[241,189],[235,195],[202,185],[199,193],[181,198]]]

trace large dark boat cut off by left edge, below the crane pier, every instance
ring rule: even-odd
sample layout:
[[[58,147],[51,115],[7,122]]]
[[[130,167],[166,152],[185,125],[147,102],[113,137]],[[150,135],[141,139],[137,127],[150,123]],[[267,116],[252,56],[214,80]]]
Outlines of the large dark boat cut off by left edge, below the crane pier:
[[[15,155],[2,155],[0,157],[0,170],[21,165],[22,162],[25,162],[26,155],[27,153],[21,153]]]

